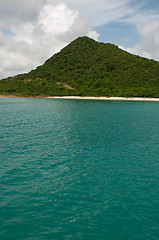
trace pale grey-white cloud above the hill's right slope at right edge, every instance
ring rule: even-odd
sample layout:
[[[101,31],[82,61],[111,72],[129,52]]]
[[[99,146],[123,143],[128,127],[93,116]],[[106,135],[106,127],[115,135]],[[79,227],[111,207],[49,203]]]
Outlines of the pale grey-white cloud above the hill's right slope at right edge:
[[[133,54],[159,61],[159,21],[152,21],[145,25],[137,25],[140,43],[134,48],[125,49]]]

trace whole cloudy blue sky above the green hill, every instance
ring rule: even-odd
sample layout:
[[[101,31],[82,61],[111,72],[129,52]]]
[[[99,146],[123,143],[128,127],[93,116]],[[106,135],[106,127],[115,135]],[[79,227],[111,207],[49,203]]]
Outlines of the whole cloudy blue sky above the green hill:
[[[159,61],[158,0],[0,0],[0,79],[89,36]]]

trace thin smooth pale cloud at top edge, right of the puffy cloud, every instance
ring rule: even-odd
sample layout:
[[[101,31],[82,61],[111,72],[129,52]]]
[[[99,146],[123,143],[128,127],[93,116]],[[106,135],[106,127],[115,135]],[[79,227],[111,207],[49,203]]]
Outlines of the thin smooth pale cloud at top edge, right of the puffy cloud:
[[[51,3],[59,2],[59,0],[48,1]],[[63,2],[73,9],[78,9],[80,15],[94,27],[134,13],[133,8],[129,5],[131,0],[63,0]]]

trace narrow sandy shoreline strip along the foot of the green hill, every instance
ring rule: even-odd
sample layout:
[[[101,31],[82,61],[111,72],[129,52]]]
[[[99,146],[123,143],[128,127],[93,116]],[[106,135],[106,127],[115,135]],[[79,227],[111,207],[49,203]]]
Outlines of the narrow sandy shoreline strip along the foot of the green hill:
[[[159,102],[159,98],[142,98],[142,97],[80,97],[80,96],[15,96],[15,95],[0,95],[0,97],[8,98],[48,98],[48,99],[72,99],[72,100],[105,100],[105,101],[153,101]]]

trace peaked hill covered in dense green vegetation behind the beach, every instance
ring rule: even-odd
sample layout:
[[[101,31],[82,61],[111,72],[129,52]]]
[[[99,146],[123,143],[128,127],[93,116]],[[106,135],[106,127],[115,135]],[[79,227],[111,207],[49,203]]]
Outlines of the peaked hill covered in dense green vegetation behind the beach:
[[[159,97],[159,63],[80,37],[28,74],[1,80],[0,94]]]

